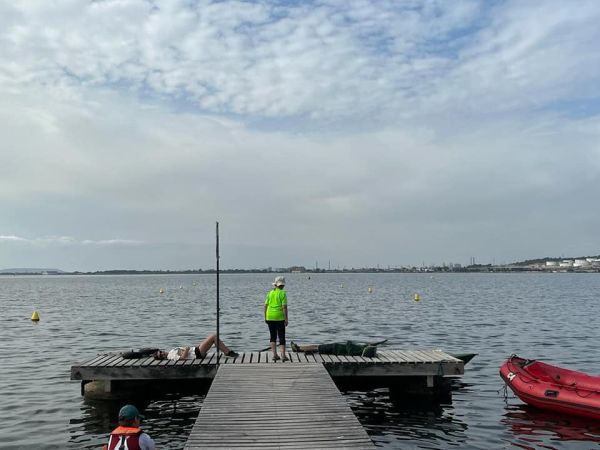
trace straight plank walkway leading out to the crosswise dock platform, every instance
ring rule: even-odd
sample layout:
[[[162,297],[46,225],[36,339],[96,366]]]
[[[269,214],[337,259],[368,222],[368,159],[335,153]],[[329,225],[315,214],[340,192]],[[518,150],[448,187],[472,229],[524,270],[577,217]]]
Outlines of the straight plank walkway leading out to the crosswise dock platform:
[[[185,449],[373,449],[322,364],[224,364]]]

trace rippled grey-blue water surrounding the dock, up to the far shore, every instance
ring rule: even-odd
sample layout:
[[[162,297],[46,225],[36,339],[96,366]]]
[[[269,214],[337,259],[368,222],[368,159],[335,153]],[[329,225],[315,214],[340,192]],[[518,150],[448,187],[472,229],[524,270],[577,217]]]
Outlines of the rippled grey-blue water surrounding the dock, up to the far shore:
[[[299,343],[388,338],[388,348],[479,353],[441,408],[396,409],[385,389],[344,393],[377,446],[600,448],[600,423],[505,399],[498,376],[512,353],[600,373],[599,274],[286,277],[288,335]],[[234,349],[268,345],[262,301],[271,281],[221,275],[221,335]],[[84,400],[71,364],[101,351],[195,344],[214,329],[214,299],[214,275],[0,277],[0,448],[101,446],[121,404]],[[161,449],[183,447],[202,400],[174,393],[141,402]]]

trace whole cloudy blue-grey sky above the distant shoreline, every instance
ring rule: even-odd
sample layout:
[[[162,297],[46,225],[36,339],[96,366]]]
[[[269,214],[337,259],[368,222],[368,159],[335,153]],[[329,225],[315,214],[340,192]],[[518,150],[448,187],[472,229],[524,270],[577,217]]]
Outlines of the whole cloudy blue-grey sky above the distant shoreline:
[[[600,254],[596,0],[0,1],[0,269]]]

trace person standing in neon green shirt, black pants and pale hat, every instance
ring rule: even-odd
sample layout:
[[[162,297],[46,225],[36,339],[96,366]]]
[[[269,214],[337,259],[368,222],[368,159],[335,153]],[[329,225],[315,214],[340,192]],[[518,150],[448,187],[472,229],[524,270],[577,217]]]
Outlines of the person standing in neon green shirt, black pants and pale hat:
[[[287,294],[285,288],[285,278],[276,277],[272,283],[273,289],[265,297],[265,322],[269,326],[271,334],[271,352],[273,352],[273,361],[278,361],[277,338],[279,338],[279,348],[281,351],[281,360],[287,361],[285,354],[285,327],[288,324]]]

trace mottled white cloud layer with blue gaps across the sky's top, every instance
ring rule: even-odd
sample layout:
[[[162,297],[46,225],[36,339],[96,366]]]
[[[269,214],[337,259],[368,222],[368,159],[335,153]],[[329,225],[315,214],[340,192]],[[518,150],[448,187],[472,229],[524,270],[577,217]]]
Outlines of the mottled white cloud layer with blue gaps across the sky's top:
[[[2,12],[5,90],[112,86],[212,113],[319,120],[598,94],[595,2],[73,1]]]

